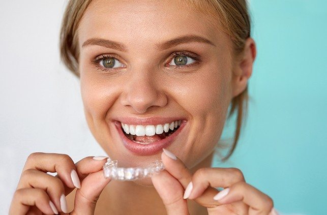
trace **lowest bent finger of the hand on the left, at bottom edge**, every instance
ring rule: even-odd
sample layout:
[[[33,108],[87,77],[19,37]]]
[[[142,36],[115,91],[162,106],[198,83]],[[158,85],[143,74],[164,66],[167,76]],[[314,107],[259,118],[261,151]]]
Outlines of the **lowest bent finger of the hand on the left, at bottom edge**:
[[[58,214],[55,208],[51,208],[51,203],[49,196],[42,189],[19,189],[14,194],[9,214],[26,214],[29,208],[34,205],[43,213]]]

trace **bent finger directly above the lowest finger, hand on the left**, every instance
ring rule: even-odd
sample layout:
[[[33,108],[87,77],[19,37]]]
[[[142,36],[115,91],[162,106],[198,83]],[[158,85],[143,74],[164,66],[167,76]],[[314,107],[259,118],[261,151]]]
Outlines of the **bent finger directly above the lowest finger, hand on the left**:
[[[36,169],[27,169],[21,175],[21,183],[17,189],[39,188],[44,190],[54,203],[55,207],[62,211],[60,197],[65,194],[63,182],[52,175],[38,171]]]

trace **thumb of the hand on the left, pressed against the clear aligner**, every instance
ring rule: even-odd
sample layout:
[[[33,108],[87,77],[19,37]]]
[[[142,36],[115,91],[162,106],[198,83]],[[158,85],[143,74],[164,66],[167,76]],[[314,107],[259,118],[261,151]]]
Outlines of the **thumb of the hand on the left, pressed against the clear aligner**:
[[[74,210],[71,214],[93,215],[99,196],[109,182],[110,178],[105,178],[102,170],[86,176],[81,189],[76,191]]]

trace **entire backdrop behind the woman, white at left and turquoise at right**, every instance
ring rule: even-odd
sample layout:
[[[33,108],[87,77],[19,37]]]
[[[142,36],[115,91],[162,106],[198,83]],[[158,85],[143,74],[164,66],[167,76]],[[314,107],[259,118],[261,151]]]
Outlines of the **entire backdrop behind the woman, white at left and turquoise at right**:
[[[88,131],[79,81],[63,66],[58,33],[66,1],[1,1],[0,214],[29,153],[105,155]],[[233,156],[282,214],[327,209],[327,2],[252,0],[258,55],[246,125]],[[232,137],[233,120],[223,138]]]

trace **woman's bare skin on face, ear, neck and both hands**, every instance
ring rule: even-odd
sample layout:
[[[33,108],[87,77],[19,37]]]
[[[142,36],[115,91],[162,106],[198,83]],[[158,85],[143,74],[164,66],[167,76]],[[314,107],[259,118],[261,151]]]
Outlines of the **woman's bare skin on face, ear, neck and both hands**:
[[[102,175],[105,160],[87,157],[74,164],[67,155],[33,153],[26,161],[10,214],[53,214],[50,200],[63,211],[62,194],[70,194],[71,214],[276,214],[272,199],[248,185],[240,170],[210,168],[230,101],[246,88],[256,55],[249,38],[242,55],[233,57],[230,38],[218,25],[212,26],[208,17],[178,1],[93,1],[78,28],[81,94],[88,126],[120,166],[143,166],[162,159],[165,170],[151,179],[110,181]],[[189,41],[158,50],[157,44],[190,35],[211,44]],[[83,46],[90,38],[119,42],[125,50]],[[179,51],[199,60],[176,68],[170,63],[171,54]],[[103,71],[93,62],[102,54],[114,56],[122,67]],[[176,159],[164,152],[134,155],[122,144],[113,124],[122,116],[167,115],[187,120],[167,148]],[[72,170],[78,174],[75,183]],[[191,181],[188,198],[193,201],[187,201],[183,196]],[[228,195],[214,200],[215,187],[229,188]]]

